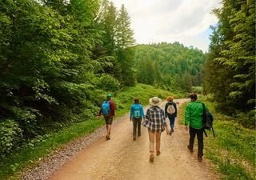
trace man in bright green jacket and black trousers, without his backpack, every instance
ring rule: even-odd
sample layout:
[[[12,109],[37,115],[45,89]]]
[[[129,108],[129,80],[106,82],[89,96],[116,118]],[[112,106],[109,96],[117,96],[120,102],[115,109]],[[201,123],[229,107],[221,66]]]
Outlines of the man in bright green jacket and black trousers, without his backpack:
[[[187,148],[193,153],[194,138],[197,135],[198,138],[198,162],[202,162],[203,156],[203,106],[202,102],[197,101],[197,94],[190,94],[190,100],[185,109],[185,126],[188,130],[188,124],[190,125],[190,142]],[[206,110],[208,108],[206,107]]]

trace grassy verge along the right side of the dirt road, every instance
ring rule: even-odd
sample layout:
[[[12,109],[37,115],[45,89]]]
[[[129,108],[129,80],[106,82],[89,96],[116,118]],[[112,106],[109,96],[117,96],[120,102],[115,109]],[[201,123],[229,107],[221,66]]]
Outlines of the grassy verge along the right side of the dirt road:
[[[204,102],[204,99],[200,100]],[[205,103],[214,114],[216,135],[214,138],[211,131],[206,130],[208,137],[204,138],[205,157],[214,163],[215,170],[222,174],[223,180],[256,179],[256,131],[242,127],[234,118],[218,114],[213,103]],[[185,106],[183,104],[179,110],[181,124],[184,124]]]

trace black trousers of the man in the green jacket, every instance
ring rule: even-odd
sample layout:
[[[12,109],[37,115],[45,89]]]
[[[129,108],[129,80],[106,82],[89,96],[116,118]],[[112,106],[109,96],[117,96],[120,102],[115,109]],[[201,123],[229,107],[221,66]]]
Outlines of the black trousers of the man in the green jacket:
[[[190,127],[190,149],[193,150],[195,135],[198,137],[198,158],[203,155],[203,129]]]

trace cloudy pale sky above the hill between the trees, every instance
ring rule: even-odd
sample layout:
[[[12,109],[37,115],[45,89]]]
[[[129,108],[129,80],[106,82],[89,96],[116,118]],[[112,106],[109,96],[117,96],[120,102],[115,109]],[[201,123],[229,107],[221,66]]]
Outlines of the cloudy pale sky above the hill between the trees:
[[[181,42],[204,52],[210,43],[210,25],[218,19],[211,10],[220,0],[110,0],[118,10],[122,4],[131,18],[138,44]]]

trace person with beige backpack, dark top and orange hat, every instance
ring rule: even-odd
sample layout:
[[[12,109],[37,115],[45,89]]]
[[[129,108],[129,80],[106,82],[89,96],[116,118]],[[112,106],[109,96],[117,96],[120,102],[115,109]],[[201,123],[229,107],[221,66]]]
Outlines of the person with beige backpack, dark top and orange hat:
[[[166,113],[166,118],[169,118],[170,121],[170,132],[169,134],[171,135],[174,132],[174,122],[175,118],[177,117],[177,106],[176,103],[174,102],[174,97],[168,96],[165,106],[165,113]]]

